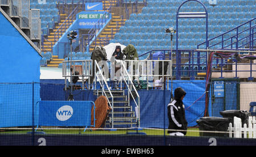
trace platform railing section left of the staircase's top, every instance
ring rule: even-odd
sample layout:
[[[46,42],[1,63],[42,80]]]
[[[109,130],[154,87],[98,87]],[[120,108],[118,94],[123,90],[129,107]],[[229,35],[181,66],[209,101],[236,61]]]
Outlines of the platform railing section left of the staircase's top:
[[[70,70],[71,68],[72,68],[72,74]],[[75,73],[75,71],[77,71],[78,73]],[[92,77],[92,73],[93,73],[92,60],[63,61],[62,75],[65,78],[65,90],[67,90],[68,78],[71,78],[71,77],[82,77],[82,90],[84,90],[85,79],[88,78],[89,84],[90,84],[90,77]]]

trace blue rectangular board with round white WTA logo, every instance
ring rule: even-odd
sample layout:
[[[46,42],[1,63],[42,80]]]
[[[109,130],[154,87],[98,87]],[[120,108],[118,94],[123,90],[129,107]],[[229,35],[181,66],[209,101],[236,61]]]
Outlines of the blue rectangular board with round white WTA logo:
[[[94,126],[91,124],[92,107],[95,107],[93,101],[39,101],[38,125]]]

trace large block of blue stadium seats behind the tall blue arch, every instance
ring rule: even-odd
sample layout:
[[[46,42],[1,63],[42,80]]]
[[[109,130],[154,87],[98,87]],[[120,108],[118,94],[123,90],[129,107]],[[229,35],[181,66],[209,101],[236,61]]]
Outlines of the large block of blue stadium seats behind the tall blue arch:
[[[126,37],[123,37],[122,40],[127,40],[128,42],[126,41],[125,43],[130,44],[135,43],[134,39],[137,39],[136,48],[139,55],[146,53],[144,46],[152,46],[150,43],[155,44],[155,42],[152,42],[155,40],[158,40],[158,44],[160,44],[155,45],[155,48],[159,48],[159,46],[166,48],[166,45],[169,45],[170,36],[163,36],[162,33],[164,33],[164,28],[176,27],[176,12],[182,2],[184,1],[147,0],[147,6],[143,7],[140,13],[133,13],[130,15],[130,19],[126,20],[125,26],[122,28],[122,31],[126,30]],[[218,1],[218,5],[214,7],[210,6],[207,0],[201,2],[204,3],[208,11],[208,39],[255,18],[256,7],[254,0]],[[181,6],[181,11],[203,12],[204,8],[199,3],[192,1]],[[182,46],[179,46],[180,49],[196,48],[197,44],[205,41],[205,19],[179,19],[178,24],[179,39],[184,39],[179,41],[179,45]],[[129,26],[133,26],[136,29],[130,29]],[[138,26],[139,32],[142,33],[141,38],[138,35]],[[124,33],[122,31],[121,33]],[[134,39],[132,37],[129,38],[128,36],[133,35],[133,32],[136,32]],[[230,37],[230,35],[225,35],[225,37]],[[176,40],[175,38],[176,35],[174,35],[174,40]],[[138,39],[142,40],[138,41]],[[117,34],[111,42],[118,40],[120,38]],[[188,40],[191,41],[188,42]],[[216,44],[218,42],[220,41],[213,41],[212,43]],[[154,46],[151,48],[155,49]]]

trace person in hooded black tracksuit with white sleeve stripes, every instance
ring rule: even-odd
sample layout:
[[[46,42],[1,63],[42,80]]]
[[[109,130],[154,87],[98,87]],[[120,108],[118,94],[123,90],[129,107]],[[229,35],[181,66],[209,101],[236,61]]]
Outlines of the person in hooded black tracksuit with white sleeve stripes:
[[[187,125],[188,122],[185,119],[185,107],[183,104],[183,98],[186,95],[186,92],[183,88],[178,87],[174,91],[174,100],[171,100],[170,104],[168,104],[168,119],[169,126],[167,133],[170,135],[185,135],[187,134]],[[178,130],[178,131],[175,131]],[[184,131],[179,131],[184,130]]]

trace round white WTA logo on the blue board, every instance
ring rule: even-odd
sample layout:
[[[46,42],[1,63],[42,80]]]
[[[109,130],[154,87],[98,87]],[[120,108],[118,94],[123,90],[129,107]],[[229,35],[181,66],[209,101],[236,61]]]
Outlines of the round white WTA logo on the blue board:
[[[56,112],[56,118],[59,121],[67,121],[73,115],[73,108],[69,105],[60,107]]]

